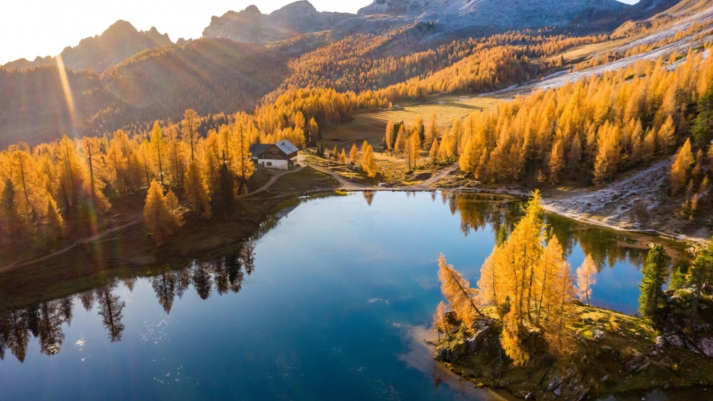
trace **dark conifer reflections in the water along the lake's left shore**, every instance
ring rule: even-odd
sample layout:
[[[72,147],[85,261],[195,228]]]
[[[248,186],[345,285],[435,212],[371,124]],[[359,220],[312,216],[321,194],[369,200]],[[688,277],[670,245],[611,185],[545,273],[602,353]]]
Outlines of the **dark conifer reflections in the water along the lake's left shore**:
[[[242,288],[245,275],[255,269],[255,246],[245,245],[236,253],[230,253],[212,262],[195,262],[183,268],[165,267],[158,275],[149,279],[158,304],[168,315],[175,298],[185,294],[193,285],[198,296],[206,300],[215,287],[215,293],[237,293]],[[122,283],[133,290],[138,278],[128,278]],[[31,307],[0,312],[0,360],[4,360],[9,350],[19,362],[24,362],[31,338],[39,339],[43,355],[60,352],[65,339],[63,325],[71,325],[75,300],[87,311],[95,305],[98,316],[106,329],[110,342],[119,342],[125,330],[121,322],[125,301],[116,294],[118,282],[112,280],[96,290],[88,290],[76,295],[53,300]]]

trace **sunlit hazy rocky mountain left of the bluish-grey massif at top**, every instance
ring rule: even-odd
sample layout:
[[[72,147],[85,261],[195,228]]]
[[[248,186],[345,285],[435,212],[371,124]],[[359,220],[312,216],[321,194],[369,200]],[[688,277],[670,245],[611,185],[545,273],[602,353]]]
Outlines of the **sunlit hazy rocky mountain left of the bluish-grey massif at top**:
[[[306,0],[288,4],[268,15],[262,14],[257,6],[249,6],[240,12],[228,11],[222,16],[213,16],[210,25],[203,30],[203,37],[267,43],[326,31],[353,17],[354,14],[319,12]]]

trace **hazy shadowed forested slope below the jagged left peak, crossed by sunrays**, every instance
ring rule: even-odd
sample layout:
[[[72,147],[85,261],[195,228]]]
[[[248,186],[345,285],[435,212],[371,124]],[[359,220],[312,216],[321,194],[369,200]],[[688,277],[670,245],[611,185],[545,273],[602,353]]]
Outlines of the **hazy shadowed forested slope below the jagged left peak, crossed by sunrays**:
[[[252,111],[287,76],[289,57],[264,44],[199,39],[155,47],[104,73],[67,71],[79,135],[147,121],[180,119],[187,108],[209,113]],[[73,133],[56,66],[0,68],[0,148]],[[21,94],[21,95],[20,95]]]

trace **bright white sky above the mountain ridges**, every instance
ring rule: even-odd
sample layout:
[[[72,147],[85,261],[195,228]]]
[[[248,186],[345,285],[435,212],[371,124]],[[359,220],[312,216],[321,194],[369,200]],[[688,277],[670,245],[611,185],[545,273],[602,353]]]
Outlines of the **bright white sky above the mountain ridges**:
[[[171,40],[199,38],[210,17],[255,4],[265,14],[294,0],[5,0],[0,12],[0,64],[56,56],[118,19],[145,31],[155,26]],[[623,0],[635,3],[638,0]],[[319,11],[356,13],[371,0],[310,0]]]

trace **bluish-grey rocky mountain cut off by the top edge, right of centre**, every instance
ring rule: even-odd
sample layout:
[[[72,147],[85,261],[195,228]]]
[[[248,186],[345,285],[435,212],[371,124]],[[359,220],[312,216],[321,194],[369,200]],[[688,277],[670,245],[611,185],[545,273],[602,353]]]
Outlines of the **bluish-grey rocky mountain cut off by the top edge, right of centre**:
[[[583,14],[627,11],[631,6],[615,0],[374,0],[359,16],[386,14],[418,21],[438,21],[462,29],[492,26],[525,29],[567,26]]]

